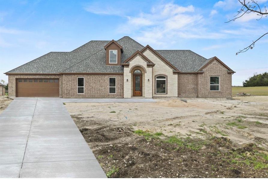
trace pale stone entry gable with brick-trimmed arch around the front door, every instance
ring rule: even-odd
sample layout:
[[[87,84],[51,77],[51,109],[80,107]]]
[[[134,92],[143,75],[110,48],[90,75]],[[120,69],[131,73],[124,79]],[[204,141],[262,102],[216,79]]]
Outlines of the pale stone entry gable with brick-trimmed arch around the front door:
[[[131,67],[134,67],[132,68]],[[124,67],[124,98],[131,98],[133,96],[133,79],[132,73],[135,69],[142,71],[143,91],[144,98],[152,98],[152,67],[147,67],[147,62],[141,58],[140,55],[133,57],[129,62],[129,66]],[[131,70],[131,72],[130,72]],[[146,70],[146,72],[145,72]],[[128,79],[128,82],[127,82]],[[149,79],[149,81],[148,81]]]

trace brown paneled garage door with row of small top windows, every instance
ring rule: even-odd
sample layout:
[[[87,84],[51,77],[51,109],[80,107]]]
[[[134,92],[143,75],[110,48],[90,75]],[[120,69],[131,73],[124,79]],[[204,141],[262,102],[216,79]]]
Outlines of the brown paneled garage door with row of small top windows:
[[[59,97],[59,79],[17,79],[17,97]]]

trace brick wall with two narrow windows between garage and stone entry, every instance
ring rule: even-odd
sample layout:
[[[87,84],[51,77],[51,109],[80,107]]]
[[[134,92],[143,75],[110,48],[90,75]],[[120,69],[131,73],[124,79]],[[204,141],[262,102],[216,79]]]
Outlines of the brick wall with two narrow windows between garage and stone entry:
[[[84,77],[84,94],[77,94],[77,77]],[[116,77],[116,94],[109,94],[109,77]],[[63,74],[63,98],[123,98],[123,74]]]

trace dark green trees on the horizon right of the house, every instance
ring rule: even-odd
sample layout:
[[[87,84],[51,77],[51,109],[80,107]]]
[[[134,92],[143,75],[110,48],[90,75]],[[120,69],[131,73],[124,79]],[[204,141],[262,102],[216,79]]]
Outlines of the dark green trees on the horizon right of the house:
[[[243,81],[244,87],[253,87],[253,86],[268,86],[268,73],[257,74],[254,73],[252,77],[249,77],[248,80]]]

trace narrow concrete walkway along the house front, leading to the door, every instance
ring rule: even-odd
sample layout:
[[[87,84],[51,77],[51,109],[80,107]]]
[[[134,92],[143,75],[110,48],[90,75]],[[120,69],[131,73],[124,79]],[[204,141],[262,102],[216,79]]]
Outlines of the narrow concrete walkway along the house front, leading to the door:
[[[152,103],[152,98],[61,98],[63,103]]]

